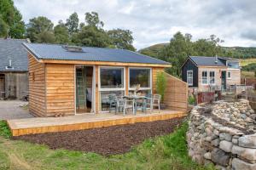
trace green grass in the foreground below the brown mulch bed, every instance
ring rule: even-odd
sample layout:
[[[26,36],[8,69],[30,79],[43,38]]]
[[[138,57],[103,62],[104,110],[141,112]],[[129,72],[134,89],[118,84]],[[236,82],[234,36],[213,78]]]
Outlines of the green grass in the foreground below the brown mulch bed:
[[[174,133],[147,139],[123,155],[101,156],[71,150],[49,150],[45,145],[9,139],[0,121],[0,169],[214,169],[197,165],[188,156],[184,122]]]

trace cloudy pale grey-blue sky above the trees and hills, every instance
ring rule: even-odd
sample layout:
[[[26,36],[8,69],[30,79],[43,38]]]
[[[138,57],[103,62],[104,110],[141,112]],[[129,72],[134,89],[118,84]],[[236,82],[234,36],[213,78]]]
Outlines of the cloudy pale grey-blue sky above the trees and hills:
[[[104,29],[128,29],[133,45],[169,42],[177,32],[192,40],[216,35],[222,46],[256,47],[256,0],[14,0],[23,20],[46,16],[55,24],[77,12],[96,11]]]

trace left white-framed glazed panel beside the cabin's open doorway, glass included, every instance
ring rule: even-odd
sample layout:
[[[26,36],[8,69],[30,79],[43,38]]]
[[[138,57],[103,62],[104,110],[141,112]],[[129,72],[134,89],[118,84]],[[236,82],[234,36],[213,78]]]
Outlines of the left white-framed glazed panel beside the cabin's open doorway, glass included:
[[[125,68],[101,66],[99,74],[100,111],[109,111],[110,96],[125,94]]]

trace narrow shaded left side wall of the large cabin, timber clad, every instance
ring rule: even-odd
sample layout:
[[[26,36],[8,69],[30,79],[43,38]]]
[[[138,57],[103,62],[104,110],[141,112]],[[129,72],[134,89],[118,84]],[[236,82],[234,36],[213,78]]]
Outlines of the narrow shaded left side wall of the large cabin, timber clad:
[[[45,116],[45,67],[28,54],[29,111],[36,116]]]

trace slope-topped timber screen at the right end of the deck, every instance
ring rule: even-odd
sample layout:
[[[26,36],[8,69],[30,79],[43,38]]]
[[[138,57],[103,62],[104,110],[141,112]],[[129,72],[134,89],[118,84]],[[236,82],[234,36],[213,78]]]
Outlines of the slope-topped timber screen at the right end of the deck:
[[[164,103],[166,109],[188,110],[188,84],[166,73],[166,95]]]

